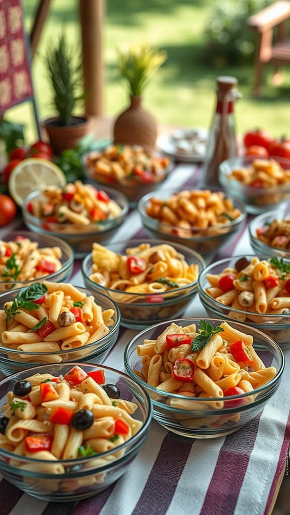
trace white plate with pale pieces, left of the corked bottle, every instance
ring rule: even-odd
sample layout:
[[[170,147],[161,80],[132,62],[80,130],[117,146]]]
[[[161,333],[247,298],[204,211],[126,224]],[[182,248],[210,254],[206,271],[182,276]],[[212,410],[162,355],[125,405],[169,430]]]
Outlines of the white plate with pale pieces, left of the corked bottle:
[[[171,134],[160,134],[157,147],[177,161],[195,163],[205,158],[207,131],[201,128],[176,129]],[[184,147],[184,151],[180,147]]]

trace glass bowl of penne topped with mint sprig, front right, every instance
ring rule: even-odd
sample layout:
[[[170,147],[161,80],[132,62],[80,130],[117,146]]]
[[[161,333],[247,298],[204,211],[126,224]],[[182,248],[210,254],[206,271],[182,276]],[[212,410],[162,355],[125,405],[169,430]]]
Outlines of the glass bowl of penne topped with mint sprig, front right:
[[[279,388],[284,356],[272,338],[248,325],[184,318],[132,338],[124,365],[149,393],[159,424],[189,438],[216,438],[262,411]]]

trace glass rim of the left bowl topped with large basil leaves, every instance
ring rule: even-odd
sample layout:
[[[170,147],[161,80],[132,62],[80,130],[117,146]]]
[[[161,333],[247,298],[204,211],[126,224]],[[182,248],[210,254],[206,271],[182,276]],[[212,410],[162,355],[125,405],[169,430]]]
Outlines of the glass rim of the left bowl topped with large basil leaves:
[[[61,283],[57,283],[59,285],[61,285]],[[114,300],[110,299],[107,295],[104,295],[101,291],[93,291],[93,290],[90,290],[89,288],[86,288],[84,286],[75,286],[75,288],[79,289],[80,291],[82,290],[85,290],[86,292],[89,292],[91,295],[93,295],[94,297],[96,295],[100,295],[103,299],[109,302],[111,302],[113,305],[114,305],[114,309],[116,311],[116,314],[117,314],[117,320],[116,320],[116,323],[114,325],[114,327],[112,328],[109,328],[111,329],[111,331],[109,331],[105,336],[102,336],[102,338],[100,338],[99,340],[96,340],[96,341],[92,341],[90,344],[88,345],[83,345],[82,347],[76,347],[76,348],[73,348],[73,349],[67,349],[67,350],[62,350],[62,349],[59,349],[59,351],[49,351],[49,352],[28,352],[28,351],[19,351],[17,349],[10,349],[9,347],[3,347],[3,345],[1,344],[0,345],[0,361],[5,361],[5,363],[17,363],[18,365],[21,365],[21,362],[19,361],[13,361],[13,359],[10,359],[10,358],[6,358],[4,356],[1,355],[1,353],[3,351],[8,351],[9,353],[11,354],[22,354],[23,356],[39,356],[39,354],[43,355],[43,356],[47,356],[47,355],[57,355],[57,354],[70,354],[72,352],[77,352],[78,350],[82,350],[82,349],[89,349],[91,346],[95,346],[96,344],[98,344],[98,350],[99,350],[99,344],[102,342],[102,340],[105,340],[107,339],[108,337],[110,337],[112,334],[114,334],[116,331],[119,331],[119,328],[120,328],[120,321],[121,321],[121,313],[120,313],[120,310],[119,310],[119,307],[117,306],[117,304],[114,302]],[[21,290],[22,288],[15,288],[15,289],[12,289],[10,291],[7,291],[5,292],[4,294],[0,295],[0,303],[3,303],[5,300],[3,299],[3,297],[5,295],[8,295],[8,294],[11,294],[11,293],[16,293],[18,294],[18,292]],[[102,300],[102,299],[101,299]],[[87,356],[88,357],[88,356]],[[27,363],[27,362],[23,362],[23,365],[24,363]],[[62,362],[63,365],[66,365],[67,363],[70,363],[70,362]],[[58,365],[58,363],[50,363],[49,365]],[[38,363],[37,366],[42,366],[41,363]],[[1,366],[0,366],[0,370],[1,370]],[[1,383],[1,381],[0,381]]]

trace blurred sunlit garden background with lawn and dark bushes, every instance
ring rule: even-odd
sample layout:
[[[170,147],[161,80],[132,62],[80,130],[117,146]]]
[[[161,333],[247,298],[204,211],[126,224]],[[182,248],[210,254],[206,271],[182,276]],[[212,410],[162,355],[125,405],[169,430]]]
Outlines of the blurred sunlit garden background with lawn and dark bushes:
[[[184,127],[210,124],[215,101],[215,79],[234,75],[243,99],[237,102],[238,132],[264,127],[273,135],[289,130],[290,67],[283,70],[279,87],[270,83],[272,67],[266,67],[262,96],[251,95],[254,34],[245,20],[270,2],[266,0],[107,0],[103,27],[105,67],[104,114],[116,116],[127,106],[127,91],[117,68],[117,48],[146,42],[166,50],[168,59],[144,94],[144,106],[159,123]],[[62,32],[80,52],[77,0],[54,0],[44,26],[33,79],[40,118],[54,114],[44,66],[50,42]],[[23,0],[29,30],[37,0]],[[7,113],[7,119],[23,122],[28,139],[35,139],[30,107]]]

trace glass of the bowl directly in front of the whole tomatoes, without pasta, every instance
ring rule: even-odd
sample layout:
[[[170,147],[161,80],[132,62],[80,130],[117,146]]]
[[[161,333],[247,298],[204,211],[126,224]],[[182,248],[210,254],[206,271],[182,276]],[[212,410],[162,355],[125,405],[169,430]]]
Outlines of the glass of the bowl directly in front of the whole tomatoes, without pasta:
[[[254,188],[230,178],[235,168],[248,167],[256,157],[237,157],[223,161],[219,166],[219,182],[228,193],[234,192],[246,207],[248,213],[264,213],[271,209],[278,208],[281,203],[287,202],[290,198],[290,182],[285,185],[278,185],[266,188]],[[275,157],[282,168],[290,169],[290,159]]]

